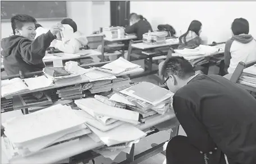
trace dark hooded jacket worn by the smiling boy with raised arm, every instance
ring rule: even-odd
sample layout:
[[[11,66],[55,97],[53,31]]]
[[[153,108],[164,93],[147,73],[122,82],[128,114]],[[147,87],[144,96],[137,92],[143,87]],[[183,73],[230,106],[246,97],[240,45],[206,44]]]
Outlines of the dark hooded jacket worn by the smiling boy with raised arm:
[[[24,36],[12,35],[1,41],[4,70],[7,75],[42,71],[43,57],[51,42],[56,39],[51,31],[38,36],[34,41]]]

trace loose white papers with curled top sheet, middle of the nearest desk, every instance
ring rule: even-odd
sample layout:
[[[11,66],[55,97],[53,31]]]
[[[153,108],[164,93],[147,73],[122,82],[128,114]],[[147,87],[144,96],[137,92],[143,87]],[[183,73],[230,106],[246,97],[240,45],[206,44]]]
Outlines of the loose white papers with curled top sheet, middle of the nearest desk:
[[[139,124],[139,113],[108,106],[94,98],[75,100],[75,104],[82,109],[77,111],[77,115],[107,146],[131,142],[147,135],[134,126]]]

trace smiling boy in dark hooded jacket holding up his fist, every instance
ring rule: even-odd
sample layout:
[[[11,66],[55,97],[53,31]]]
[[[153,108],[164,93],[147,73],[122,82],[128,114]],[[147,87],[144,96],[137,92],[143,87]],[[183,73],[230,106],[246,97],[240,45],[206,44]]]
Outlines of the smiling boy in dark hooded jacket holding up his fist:
[[[14,35],[1,41],[4,70],[8,76],[19,74],[19,71],[42,71],[45,67],[45,51],[63,26],[54,25],[46,34],[35,39],[35,23],[35,18],[29,15],[18,14],[11,18]]]

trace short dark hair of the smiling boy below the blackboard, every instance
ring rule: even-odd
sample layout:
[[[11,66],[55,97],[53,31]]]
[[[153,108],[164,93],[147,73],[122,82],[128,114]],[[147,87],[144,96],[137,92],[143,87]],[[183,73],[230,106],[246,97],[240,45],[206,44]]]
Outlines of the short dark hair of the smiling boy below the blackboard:
[[[11,17],[11,25],[12,25],[12,32],[15,35],[15,29],[21,30],[24,23],[33,22],[36,23],[36,20],[34,17],[25,15],[25,14],[17,14],[13,17]]]

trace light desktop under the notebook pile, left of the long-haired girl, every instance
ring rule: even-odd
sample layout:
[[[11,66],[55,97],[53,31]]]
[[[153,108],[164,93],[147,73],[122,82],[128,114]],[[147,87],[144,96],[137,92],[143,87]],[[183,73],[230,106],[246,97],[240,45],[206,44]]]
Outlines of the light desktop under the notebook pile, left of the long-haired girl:
[[[177,44],[179,44],[179,39],[171,39],[164,44],[135,43],[135,44],[132,44],[131,46],[132,48],[138,48],[138,49],[144,50],[144,49],[159,48],[162,46],[177,45]]]

